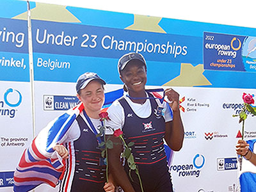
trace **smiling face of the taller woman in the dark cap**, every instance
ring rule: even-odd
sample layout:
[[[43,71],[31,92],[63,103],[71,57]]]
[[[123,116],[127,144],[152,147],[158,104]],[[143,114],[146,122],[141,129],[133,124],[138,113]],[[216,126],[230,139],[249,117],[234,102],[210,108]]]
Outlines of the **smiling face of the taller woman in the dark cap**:
[[[122,70],[120,78],[127,86],[129,95],[145,94],[147,70],[140,60],[131,60]]]

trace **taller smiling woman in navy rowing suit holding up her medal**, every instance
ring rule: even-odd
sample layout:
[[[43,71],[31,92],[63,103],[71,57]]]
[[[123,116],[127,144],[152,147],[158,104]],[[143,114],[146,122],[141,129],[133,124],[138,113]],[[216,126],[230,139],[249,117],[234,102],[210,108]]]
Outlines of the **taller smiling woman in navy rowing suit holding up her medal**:
[[[126,143],[134,142],[132,154],[138,165],[143,191],[173,191],[163,140],[172,150],[182,148],[184,127],[180,118],[179,93],[166,89],[164,95],[170,103],[162,103],[147,92],[147,65],[139,53],[122,56],[118,60],[118,72],[127,94],[109,107],[111,121],[108,125],[113,130],[122,129]],[[107,131],[106,134],[113,134],[110,129]],[[119,138],[111,136],[111,140],[120,143]],[[132,171],[131,179],[127,162],[123,166],[120,161],[122,150],[122,145],[109,149],[109,168],[113,179],[125,192],[140,192],[138,176]]]

